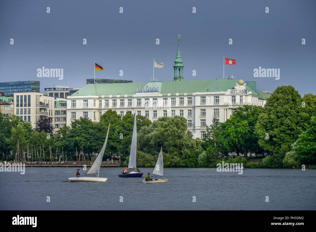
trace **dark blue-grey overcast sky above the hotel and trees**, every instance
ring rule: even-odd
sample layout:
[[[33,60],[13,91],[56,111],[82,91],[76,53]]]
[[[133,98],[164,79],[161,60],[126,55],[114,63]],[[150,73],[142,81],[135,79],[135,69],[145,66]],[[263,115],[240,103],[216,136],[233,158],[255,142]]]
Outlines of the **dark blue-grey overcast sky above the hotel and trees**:
[[[104,68],[95,78],[147,82],[153,59],[164,63],[155,78],[172,81],[179,33],[185,80],[223,78],[225,56],[236,59],[225,65],[225,77],[256,81],[257,90],[292,85],[301,96],[316,94],[315,10],[313,0],[2,0],[0,82],[39,80],[42,92],[52,85],[82,88],[94,78],[94,62]],[[63,68],[63,79],[38,77],[43,66]],[[280,69],[280,78],[254,77],[259,67]]]

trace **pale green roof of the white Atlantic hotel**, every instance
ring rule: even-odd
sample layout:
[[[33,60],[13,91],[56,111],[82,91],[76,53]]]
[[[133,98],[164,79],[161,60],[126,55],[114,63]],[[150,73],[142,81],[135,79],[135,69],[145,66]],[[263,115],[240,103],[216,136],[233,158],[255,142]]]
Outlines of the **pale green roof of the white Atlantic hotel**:
[[[164,81],[164,82],[133,82],[133,83],[113,83],[113,84],[87,84],[78,90],[73,96],[116,96],[116,95],[134,95],[139,87],[159,86],[160,94],[175,93],[196,93],[196,92],[226,92],[233,89],[238,80],[192,80],[192,81]],[[245,82],[247,83],[247,82]],[[251,95],[259,96],[260,99],[267,99],[270,94],[262,91],[252,90],[246,85]],[[57,102],[56,102],[57,104]]]

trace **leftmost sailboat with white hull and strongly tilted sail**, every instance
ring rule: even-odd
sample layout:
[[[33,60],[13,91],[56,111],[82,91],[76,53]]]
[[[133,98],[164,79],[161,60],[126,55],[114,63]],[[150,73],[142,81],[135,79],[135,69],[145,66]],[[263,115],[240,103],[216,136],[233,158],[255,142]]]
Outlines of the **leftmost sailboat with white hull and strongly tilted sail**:
[[[93,165],[90,167],[89,171],[86,174],[86,175],[98,174],[98,176],[97,177],[85,177],[86,175],[84,175],[83,177],[69,177],[68,179],[71,182],[106,182],[106,180],[108,178],[99,177],[99,172],[100,172],[100,166],[101,166],[104,150],[106,147],[107,136],[109,135],[109,129],[110,129],[110,124],[109,124],[109,128],[107,129],[106,139],[105,139],[105,142],[103,144],[103,147],[102,147],[98,157],[93,162]]]

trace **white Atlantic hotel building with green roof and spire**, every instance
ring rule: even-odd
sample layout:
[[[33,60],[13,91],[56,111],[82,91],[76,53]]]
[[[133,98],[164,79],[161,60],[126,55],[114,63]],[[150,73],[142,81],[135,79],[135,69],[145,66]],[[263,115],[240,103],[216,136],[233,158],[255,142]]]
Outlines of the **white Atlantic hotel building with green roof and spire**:
[[[226,121],[236,107],[264,106],[270,94],[256,90],[256,82],[216,79],[184,81],[178,45],[173,81],[119,84],[87,84],[67,97],[67,125],[87,117],[98,122],[108,109],[123,116],[134,111],[151,121],[179,115],[187,119],[188,130],[203,137],[213,118]]]

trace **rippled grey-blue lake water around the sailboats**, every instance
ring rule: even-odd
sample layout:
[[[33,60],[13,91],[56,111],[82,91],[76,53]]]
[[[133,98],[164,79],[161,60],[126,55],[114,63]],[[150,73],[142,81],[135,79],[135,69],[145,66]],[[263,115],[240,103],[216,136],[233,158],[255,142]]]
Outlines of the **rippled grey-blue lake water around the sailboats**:
[[[316,170],[165,168],[167,183],[120,178],[123,168],[104,167],[105,183],[68,182],[74,167],[26,167],[0,172],[1,210],[315,210]],[[86,173],[82,171],[81,173]],[[143,177],[152,168],[140,168]],[[155,177],[155,175],[153,175]],[[159,176],[157,176],[158,178]],[[161,178],[161,177],[159,177]],[[50,197],[50,202],[46,197]],[[120,202],[120,196],[123,202]],[[192,202],[192,197],[196,202]],[[266,196],[269,202],[265,202]]]

